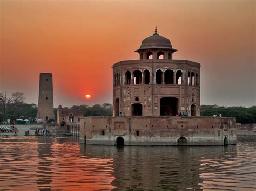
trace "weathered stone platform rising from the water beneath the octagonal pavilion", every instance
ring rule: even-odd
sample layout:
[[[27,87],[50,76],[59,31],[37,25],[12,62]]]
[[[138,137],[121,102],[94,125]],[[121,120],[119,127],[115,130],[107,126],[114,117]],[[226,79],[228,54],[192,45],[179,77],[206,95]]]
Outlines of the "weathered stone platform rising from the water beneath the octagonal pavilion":
[[[80,119],[80,143],[206,146],[236,144],[235,118],[122,116]]]

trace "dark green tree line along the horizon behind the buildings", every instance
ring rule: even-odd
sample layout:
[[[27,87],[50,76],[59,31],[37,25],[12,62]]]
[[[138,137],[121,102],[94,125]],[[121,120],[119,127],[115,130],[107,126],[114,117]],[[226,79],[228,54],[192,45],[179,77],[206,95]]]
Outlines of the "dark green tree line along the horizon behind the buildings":
[[[25,97],[21,92],[13,93],[8,96],[6,93],[0,93],[0,122],[18,118],[29,119],[35,122],[37,116],[37,105],[24,103]],[[84,117],[87,116],[112,116],[112,104],[103,103],[88,105],[73,105],[71,108],[83,108]],[[235,117],[237,123],[256,123],[256,106],[246,107],[224,107],[218,105],[201,105],[201,116],[213,116],[221,114],[223,117]],[[57,117],[57,108],[54,109],[55,118]]]

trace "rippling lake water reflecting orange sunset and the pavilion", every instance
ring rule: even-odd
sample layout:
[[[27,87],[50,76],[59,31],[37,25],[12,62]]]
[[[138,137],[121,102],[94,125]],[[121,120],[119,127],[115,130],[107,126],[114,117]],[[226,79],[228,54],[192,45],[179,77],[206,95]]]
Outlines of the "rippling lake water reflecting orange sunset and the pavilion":
[[[0,138],[0,190],[256,189],[256,140],[233,146],[84,145],[77,137]]]

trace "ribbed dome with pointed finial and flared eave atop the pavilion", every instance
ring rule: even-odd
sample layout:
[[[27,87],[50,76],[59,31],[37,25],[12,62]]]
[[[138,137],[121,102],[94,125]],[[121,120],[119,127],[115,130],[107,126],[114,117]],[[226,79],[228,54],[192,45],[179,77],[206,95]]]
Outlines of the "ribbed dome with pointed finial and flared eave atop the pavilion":
[[[172,52],[177,51],[172,48],[171,41],[157,33],[157,27],[154,34],[150,37],[145,38],[142,41],[142,45],[135,52],[140,52],[144,49],[170,49]]]

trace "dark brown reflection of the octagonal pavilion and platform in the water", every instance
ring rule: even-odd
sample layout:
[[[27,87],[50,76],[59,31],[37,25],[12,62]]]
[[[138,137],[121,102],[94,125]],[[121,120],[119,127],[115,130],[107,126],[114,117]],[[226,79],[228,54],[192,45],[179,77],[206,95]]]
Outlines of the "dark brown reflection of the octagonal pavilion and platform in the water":
[[[112,185],[124,189],[200,189],[200,159],[230,160],[231,147],[111,147],[81,145],[82,155],[113,158]],[[227,153],[227,150],[230,151]],[[230,154],[232,153],[232,154]],[[219,169],[212,169],[218,171]]]

